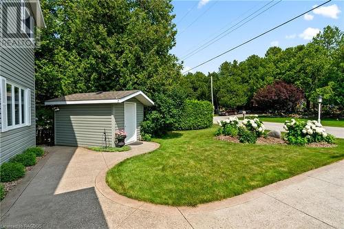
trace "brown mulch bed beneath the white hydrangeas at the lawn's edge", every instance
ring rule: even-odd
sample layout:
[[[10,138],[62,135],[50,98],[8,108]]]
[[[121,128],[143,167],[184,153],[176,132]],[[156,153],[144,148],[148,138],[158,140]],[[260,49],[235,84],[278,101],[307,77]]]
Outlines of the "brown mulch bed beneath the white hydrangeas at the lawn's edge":
[[[219,136],[215,137],[215,139],[226,141],[226,142],[240,143],[239,139],[232,137],[232,136],[219,135]],[[281,138],[260,137],[257,139],[256,144],[288,144],[288,143]],[[331,148],[331,147],[335,147],[337,145],[336,144],[330,144],[327,142],[313,142],[310,144],[306,144],[305,146],[306,147],[315,147],[315,148]]]

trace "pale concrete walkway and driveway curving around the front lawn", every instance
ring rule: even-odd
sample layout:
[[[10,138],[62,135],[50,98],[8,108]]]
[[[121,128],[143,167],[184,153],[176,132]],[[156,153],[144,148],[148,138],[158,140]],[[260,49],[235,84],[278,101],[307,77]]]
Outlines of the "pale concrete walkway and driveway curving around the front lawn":
[[[122,153],[54,146],[1,201],[1,226],[41,228],[343,228],[344,160],[197,208],[128,199],[105,184],[108,168],[158,144]]]

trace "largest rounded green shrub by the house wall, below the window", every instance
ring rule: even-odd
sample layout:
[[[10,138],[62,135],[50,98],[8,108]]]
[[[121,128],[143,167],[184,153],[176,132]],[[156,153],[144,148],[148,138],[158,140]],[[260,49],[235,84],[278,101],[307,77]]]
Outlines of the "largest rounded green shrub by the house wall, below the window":
[[[25,175],[25,166],[17,162],[5,162],[0,166],[0,181],[12,182]]]

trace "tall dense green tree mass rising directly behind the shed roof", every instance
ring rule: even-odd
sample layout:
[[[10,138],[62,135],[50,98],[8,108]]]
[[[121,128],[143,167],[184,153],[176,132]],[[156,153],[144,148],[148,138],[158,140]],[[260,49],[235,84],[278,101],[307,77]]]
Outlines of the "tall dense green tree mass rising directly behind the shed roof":
[[[37,100],[87,91],[162,92],[180,78],[169,0],[43,0]]]

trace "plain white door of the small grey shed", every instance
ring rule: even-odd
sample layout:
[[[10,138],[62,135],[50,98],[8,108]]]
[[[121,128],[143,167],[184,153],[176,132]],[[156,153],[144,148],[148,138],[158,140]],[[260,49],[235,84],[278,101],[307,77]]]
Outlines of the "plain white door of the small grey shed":
[[[136,103],[125,102],[125,143],[136,141]]]

